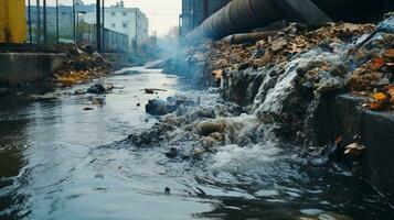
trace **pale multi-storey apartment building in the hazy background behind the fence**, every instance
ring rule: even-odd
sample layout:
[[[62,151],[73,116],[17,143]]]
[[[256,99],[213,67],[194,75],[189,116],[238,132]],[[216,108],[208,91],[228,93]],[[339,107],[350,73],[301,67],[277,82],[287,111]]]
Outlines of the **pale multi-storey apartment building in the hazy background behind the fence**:
[[[81,9],[83,8],[81,7]],[[110,31],[126,34],[130,46],[149,40],[148,18],[138,8],[125,8],[124,1],[120,1],[116,6],[105,8],[104,11],[104,26]],[[86,23],[96,23],[95,12],[87,10],[82,16]]]

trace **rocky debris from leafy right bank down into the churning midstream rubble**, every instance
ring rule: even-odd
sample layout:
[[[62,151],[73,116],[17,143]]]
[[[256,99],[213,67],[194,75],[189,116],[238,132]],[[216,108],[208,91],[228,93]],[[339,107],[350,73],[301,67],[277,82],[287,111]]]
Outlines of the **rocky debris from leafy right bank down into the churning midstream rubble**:
[[[373,24],[330,23],[318,29],[291,24],[255,44],[205,42],[191,47],[183,63],[203,63],[203,75],[220,85],[219,96],[224,100],[194,101],[192,108],[183,105],[188,99],[151,100],[147,112],[153,109],[156,114],[167,116],[151,130],[132,134],[131,142],[137,146],[141,142],[162,144],[171,157],[174,147],[177,158],[202,156],[228,144],[262,144],[275,138],[309,145],[310,117],[326,97],[372,97],[366,108],[379,103],[381,110],[390,110],[394,34],[377,33],[358,46],[373,32]],[[181,62],[167,63],[173,67]],[[353,158],[363,151],[362,144],[349,144],[338,141],[307,150],[306,154],[318,155],[311,163],[324,165],[330,160]]]

